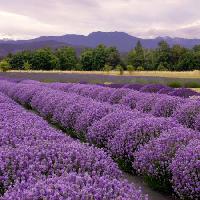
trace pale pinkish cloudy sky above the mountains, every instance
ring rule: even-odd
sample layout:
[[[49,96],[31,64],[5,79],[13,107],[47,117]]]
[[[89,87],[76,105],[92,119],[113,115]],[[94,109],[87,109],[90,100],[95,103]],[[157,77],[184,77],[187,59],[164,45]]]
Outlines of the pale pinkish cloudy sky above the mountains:
[[[0,0],[0,38],[123,31],[200,38],[200,0]]]

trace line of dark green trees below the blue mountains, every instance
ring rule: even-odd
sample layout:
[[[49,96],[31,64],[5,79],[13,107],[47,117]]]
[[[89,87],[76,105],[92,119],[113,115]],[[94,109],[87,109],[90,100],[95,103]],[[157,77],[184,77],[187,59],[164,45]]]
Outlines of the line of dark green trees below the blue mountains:
[[[157,48],[146,49],[138,41],[130,52],[120,54],[116,47],[101,44],[85,49],[79,56],[73,47],[42,48],[9,54],[1,66],[13,70],[200,70],[200,45],[188,49],[160,41]]]

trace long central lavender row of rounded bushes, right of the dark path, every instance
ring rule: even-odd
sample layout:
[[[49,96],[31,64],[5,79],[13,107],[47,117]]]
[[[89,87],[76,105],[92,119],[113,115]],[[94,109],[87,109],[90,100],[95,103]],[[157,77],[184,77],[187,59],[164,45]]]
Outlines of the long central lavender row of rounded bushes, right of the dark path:
[[[181,198],[195,199],[199,196],[199,166],[195,163],[198,160],[194,159],[194,166],[190,166],[189,175],[193,174],[197,180],[192,183],[188,182],[192,178],[188,174],[185,182],[175,178],[177,171],[172,168],[172,162],[180,159],[176,152],[185,149],[191,140],[198,140],[199,132],[182,127],[172,118],[155,118],[37,84],[19,84],[15,89],[11,88],[7,91],[17,101],[28,103],[40,114],[66,128],[75,129],[78,137],[85,137],[89,142],[106,148],[116,160],[132,165],[138,173],[160,185],[172,186]],[[195,153],[196,158],[199,152]],[[179,170],[180,173],[186,176],[184,171]]]

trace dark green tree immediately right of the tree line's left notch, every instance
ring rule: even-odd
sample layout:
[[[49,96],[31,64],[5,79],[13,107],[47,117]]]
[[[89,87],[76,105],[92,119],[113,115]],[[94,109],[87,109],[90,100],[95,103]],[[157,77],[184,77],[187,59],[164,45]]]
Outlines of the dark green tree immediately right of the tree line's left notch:
[[[86,49],[80,56],[82,69],[86,71],[93,70],[93,50]]]

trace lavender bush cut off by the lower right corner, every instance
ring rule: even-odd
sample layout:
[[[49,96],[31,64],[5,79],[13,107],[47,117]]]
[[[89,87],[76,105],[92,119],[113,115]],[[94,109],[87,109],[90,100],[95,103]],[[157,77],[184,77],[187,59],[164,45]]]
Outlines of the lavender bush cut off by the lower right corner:
[[[172,164],[172,183],[181,199],[200,198],[200,140],[180,149]]]

